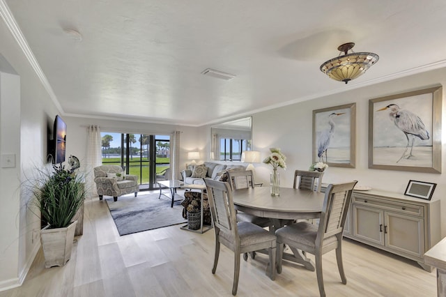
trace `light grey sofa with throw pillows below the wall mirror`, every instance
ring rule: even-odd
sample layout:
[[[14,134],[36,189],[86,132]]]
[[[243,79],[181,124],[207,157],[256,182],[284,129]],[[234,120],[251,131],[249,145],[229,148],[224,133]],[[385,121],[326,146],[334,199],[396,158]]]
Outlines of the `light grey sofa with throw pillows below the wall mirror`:
[[[212,178],[220,181],[220,178],[228,171],[246,170],[243,165],[226,165],[217,162],[204,162],[201,165],[190,165],[181,172],[184,183],[204,185],[203,178]]]

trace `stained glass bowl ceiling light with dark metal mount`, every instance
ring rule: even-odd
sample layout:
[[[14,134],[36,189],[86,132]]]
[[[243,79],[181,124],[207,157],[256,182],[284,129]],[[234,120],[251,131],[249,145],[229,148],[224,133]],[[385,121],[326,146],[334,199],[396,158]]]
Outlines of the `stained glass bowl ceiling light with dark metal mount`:
[[[379,59],[373,52],[353,52],[348,51],[355,46],[355,43],[344,43],[339,45],[337,50],[344,52],[343,56],[330,59],[321,65],[321,71],[330,78],[346,84],[352,79],[365,73],[370,66],[374,65]]]

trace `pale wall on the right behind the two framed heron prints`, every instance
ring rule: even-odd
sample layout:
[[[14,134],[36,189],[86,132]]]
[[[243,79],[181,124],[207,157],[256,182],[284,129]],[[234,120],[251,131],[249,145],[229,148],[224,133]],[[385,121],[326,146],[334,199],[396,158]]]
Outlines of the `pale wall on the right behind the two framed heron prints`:
[[[323,182],[337,183],[355,179],[359,185],[369,185],[372,188],[401,194],[406,190],[410,179],[437,183],[432,199],[441,200],[442,235],[446,236],[445,166],[443,166],[443,174],[368,168],[369,100],[416,89],[426,89],[437,84],[443,85],[442,160],[444,163],[446,160],[446,68],[253,114],[253,150],[261,151],[263,159],[269,153],[268,148],[282,148],[282,152],[287,157],[287,169],[279,169],[281,185],[291,187],[295,169],[308,169],[312,163],[312,111],[356,102],[356,167],[353,169],[329,167],[323,176]],[[207,133],[209,138],[209,129]],[[256,167],[256,182],[269,183],[271,167],[265,164],[254,166]]]

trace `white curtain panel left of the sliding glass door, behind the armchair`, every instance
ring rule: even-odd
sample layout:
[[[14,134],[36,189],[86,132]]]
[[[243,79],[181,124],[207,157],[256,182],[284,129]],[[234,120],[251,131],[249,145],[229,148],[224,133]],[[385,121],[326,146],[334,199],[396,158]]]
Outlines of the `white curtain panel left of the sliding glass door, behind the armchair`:
[[[94,182],[93,168],[102,165],[102,153],[100,128],[98,125],[90,125],[87,128],[87,148],[86,148],[86,190],[88,197],[98,196]]]

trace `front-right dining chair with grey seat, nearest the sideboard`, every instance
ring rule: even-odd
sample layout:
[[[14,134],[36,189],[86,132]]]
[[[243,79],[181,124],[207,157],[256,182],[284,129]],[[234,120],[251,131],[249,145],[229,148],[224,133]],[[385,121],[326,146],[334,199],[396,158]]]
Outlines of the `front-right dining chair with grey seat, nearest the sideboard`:
[[[336,249],[337,267],[343,284],[347,283],[342,264],[342,232],[346,222],[351,194],[357,181],[328,185],[318,227],[309,222],[298,222],[278,229],[277,273],[282,273],[284,244],[290,248],[314,254],[319,294],[325,296],[322,276],[322,255]]]

